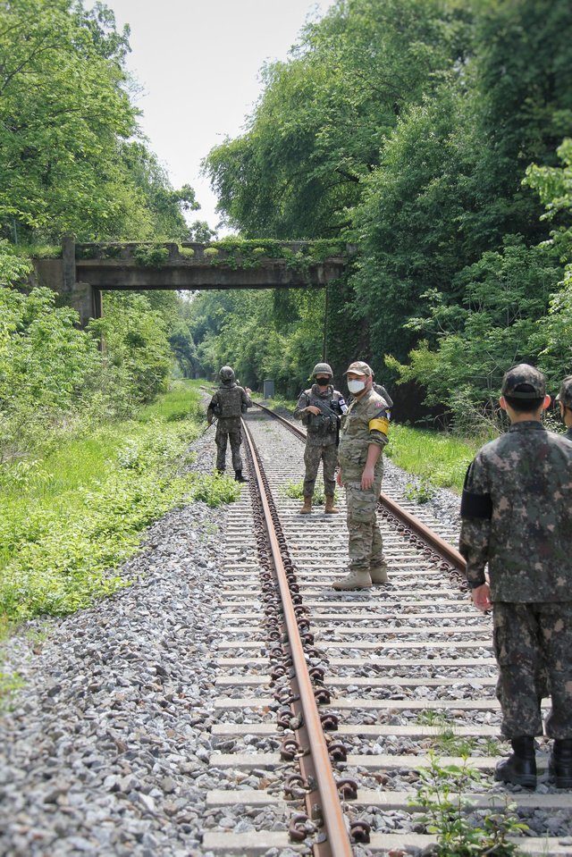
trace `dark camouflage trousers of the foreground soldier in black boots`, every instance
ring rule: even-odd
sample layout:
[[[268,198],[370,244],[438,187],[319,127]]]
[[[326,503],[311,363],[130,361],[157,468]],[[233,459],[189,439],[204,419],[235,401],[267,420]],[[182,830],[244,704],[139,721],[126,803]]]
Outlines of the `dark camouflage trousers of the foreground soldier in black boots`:
[[[546,735],[572,738],[572,601],[495,601],[492,613],[502,735],[543,735],[540,703],[550,695]]]

